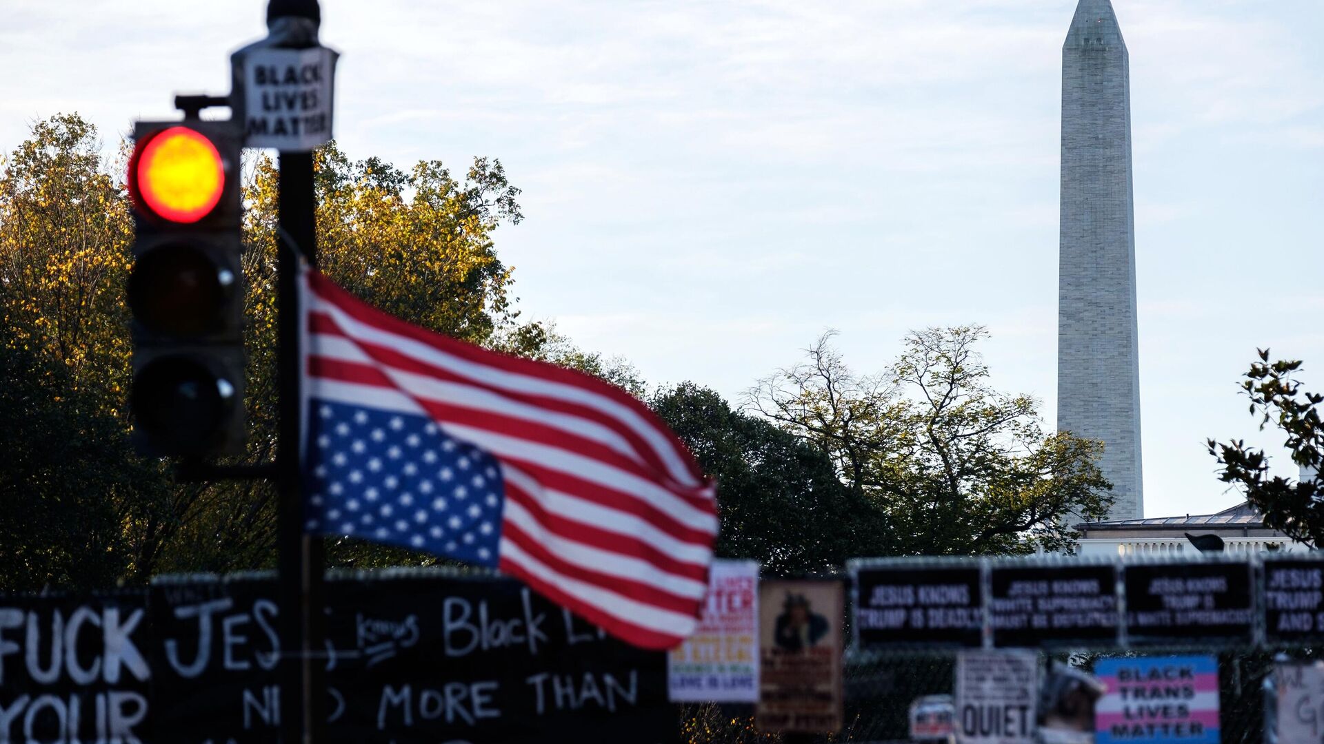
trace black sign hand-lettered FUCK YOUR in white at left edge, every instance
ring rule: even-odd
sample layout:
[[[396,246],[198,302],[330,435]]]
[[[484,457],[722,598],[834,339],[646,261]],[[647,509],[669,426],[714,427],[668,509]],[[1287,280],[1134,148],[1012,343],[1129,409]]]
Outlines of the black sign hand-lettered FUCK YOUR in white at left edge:
[[[147,740],[143,593],[0,596],[0,741]]]

